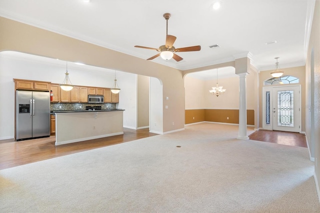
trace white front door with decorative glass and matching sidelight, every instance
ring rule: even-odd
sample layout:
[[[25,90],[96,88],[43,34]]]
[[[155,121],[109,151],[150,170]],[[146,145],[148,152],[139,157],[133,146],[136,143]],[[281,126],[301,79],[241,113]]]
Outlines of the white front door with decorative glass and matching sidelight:
[[[262,127],[301,131],[301,85],[262,87]]]

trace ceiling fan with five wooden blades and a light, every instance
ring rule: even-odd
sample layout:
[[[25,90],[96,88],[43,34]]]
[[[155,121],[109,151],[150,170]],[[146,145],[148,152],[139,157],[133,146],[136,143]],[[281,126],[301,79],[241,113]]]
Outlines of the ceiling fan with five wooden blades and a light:
[[[164,13],[163,17],[166,20],[166,38],[165,38],[165,45],[159,46],[159,48],[152,48],[152,47],[146,47],[146,46],[138,46],[135,45],[134,47],[139,48],[145,48],[145,49],[154,49],[160,53],[153,55],[152,57],[148,58],[147,60],[152,60],[156,58],[157,56],[161,56],[165,60],[169,60],[173,57],[174,60],[180,61],[183,58],[179,55],[175,54],[175,52],[187,52],[187,51],[199,51],[201,49],[200,45],[197,46],[188,46],[188,47],[182,47],[182,48],[175,48],[173,46],[173,43],[176,39],[173,35],[168,35],[168,19],[171,16],[170,13]]]

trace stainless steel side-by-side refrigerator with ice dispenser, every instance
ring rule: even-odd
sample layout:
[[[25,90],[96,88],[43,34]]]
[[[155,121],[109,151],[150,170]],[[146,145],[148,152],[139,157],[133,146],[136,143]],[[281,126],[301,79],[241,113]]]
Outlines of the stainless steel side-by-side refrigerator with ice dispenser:
[[[16,90],[16,140],[50,136],[50,93]]]

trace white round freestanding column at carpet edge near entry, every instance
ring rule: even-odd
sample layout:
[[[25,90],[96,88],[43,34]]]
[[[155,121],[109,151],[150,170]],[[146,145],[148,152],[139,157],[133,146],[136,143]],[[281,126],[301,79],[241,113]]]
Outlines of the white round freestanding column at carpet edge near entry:
[[[246,135],[246,75],[247,73],[237,73],[239,75],[239,133],[237,139],[247,140]]]

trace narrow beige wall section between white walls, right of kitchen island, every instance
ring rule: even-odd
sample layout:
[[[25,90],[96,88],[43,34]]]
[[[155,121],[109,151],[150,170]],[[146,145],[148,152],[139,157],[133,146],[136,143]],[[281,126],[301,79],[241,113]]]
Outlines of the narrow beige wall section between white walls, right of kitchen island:
[[[137,75],[137,128],[149,126],[149,79]]]

